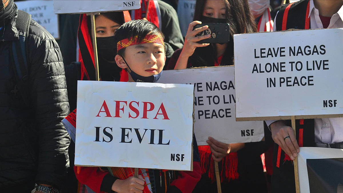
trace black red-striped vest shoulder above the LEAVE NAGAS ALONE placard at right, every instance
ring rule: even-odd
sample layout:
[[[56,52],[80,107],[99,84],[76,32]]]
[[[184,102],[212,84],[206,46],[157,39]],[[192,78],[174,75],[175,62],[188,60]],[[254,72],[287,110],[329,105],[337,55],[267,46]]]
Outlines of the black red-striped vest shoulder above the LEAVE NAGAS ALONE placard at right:
[[[288,29],[310,29],[310,1],[302,0],[294,3],[284,4],[277,13],[276,31]]]

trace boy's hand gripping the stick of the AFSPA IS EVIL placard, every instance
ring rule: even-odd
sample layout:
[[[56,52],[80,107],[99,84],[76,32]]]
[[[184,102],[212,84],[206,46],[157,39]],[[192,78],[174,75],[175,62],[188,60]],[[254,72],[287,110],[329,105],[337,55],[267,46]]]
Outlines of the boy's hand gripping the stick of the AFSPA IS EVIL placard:
[[[130,177],[125,180],[116,180],[112,185],[112,190],[118,193],[142,193],[145,180],[139,175],[138,178]]]

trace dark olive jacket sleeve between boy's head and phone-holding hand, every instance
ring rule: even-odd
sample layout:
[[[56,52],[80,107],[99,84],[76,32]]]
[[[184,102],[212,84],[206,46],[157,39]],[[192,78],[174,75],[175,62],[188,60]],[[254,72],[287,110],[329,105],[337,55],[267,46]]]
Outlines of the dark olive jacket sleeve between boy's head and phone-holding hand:
[[[174,51],[184,46],[184,38],[182,37],[179,18],[175,9],[163,1],[158,1],[158,6],[161,11],[161,30],[165,36],[164,44],[167,58],[165,66],[167,66]]]

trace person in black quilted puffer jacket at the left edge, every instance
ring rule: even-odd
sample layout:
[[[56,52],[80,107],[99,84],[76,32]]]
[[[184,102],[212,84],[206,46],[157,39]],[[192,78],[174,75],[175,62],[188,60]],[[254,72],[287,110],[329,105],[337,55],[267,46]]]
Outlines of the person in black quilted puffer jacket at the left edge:
[[[31,20],[25,40],[29,105],[14,95],[10,52],[19,39],[17,14],[13,0],[0,1],[0,192],[29,193],[35,183],[35,193],[42,185],[58,192],[69,167],[70,143],[61,123],[69,114],[62,55],[54,37]]]

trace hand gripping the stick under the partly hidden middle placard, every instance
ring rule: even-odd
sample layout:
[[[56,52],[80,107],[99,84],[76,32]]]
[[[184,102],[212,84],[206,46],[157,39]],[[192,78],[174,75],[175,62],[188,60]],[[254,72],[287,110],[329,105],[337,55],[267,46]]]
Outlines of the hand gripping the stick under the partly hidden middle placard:
[[[209,144],[212,151],[212,158],[216,162],[220,162],[225,156],[227,156],[230,152],[237,152],[238,150],[244,148],[244,143],[237,143],[237,144],[226,144],[220,141],[209,137],[209,140],[206,141]]]

